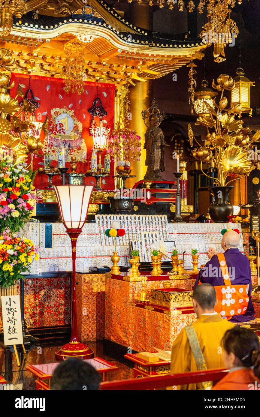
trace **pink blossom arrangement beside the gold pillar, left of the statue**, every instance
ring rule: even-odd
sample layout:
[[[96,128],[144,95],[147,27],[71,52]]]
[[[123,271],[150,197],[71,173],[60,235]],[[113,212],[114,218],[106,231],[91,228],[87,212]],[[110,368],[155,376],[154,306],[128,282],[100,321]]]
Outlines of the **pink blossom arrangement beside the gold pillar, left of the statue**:
[[[141,136],[130,128],[118,128],[110,132],[108,137],[108,154],[112,161],[140,161]]]

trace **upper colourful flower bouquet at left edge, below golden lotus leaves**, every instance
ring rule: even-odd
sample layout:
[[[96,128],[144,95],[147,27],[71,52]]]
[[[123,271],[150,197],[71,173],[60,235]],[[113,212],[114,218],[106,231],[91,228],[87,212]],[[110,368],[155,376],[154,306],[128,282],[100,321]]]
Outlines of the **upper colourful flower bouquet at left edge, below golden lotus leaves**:
[[[2,147],[3,149],[3,147]],[[28,171],[19,158],[5,156],[0,163],[0,233],[7,227],[12,233],[23,228],[30,218],[35,199],[33,179],[36,171]]]

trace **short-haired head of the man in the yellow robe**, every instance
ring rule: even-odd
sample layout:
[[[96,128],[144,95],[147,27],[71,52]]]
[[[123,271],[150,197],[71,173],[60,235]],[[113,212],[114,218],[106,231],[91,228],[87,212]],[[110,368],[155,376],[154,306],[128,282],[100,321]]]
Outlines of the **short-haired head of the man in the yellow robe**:
[[[192,303],[198,317],[203,313],[213,313],[217,304],[215,288],[210,284],[198,285],[193,291]]]

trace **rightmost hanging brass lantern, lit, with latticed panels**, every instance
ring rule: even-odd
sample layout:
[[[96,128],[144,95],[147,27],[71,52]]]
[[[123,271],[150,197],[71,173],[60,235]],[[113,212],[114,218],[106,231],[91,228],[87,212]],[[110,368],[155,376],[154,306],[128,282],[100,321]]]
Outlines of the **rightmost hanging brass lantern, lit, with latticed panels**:
[[[248,80],[245,77],[243,68],[237,68],[235,81],[235,87],[231,90],[230,106],[233,107],[237,103],[241,103],[241,113],[249,113],[252,116],[252,108],[250,108],[250,87],[255,86],[255,81]],[[241,117],[240,113],[240,117]]]

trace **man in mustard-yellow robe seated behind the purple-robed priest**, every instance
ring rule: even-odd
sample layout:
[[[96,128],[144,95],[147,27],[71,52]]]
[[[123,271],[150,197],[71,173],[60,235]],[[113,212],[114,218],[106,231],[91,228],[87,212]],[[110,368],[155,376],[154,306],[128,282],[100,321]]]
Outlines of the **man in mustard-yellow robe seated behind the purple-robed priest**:
[[[234,324],[226,319],[222,319],[220,314],[214,311],[217,300],[216,291],[212,285],[201,284],[197,286],[192,295],[192,303],[198,318],[192,325],[182,329],[173,343],[171,357],[172,374],[200,370],[197,369],[196,360],[189,342],[188,335],[190,331],[193,332],[193,336],[199,343],[200,354],[204,358],[204,369],[225,367],[222,360],[221,340],[225,332],[231,329]],[[202,389],[202,384],[181,385],[177,389]]]

